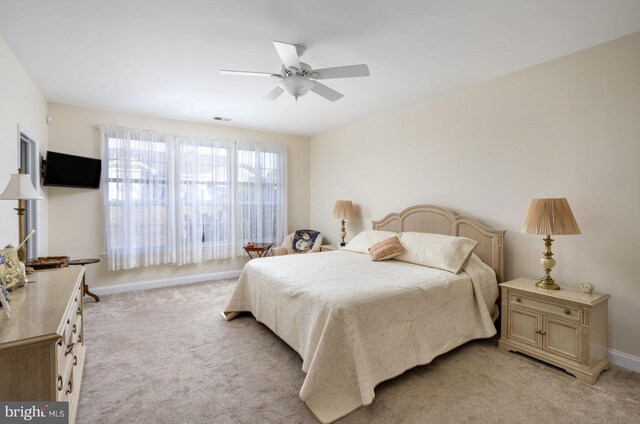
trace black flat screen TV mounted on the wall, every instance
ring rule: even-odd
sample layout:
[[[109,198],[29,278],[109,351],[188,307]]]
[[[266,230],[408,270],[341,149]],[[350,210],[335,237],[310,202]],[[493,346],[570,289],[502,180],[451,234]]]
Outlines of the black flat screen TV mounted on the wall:
[[[99,188],[101,163],[100,159],[47,152],[44,185]]]

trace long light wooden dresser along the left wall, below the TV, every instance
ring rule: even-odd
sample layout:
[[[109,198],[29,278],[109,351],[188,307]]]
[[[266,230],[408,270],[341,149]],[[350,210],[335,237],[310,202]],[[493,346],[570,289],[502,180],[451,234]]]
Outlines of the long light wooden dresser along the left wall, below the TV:
[[[33,274],[0,314],[0,400],[68,401],[75,421],[82,381],[84,267]]]

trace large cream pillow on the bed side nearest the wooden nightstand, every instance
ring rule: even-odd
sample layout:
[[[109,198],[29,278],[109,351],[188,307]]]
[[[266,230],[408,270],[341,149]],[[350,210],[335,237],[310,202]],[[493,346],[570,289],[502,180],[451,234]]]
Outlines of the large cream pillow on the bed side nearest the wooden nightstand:
[[[466,237],[411,231],[398,235],[404,252],[394,259],[459,273],[467,264],[477,241]]]

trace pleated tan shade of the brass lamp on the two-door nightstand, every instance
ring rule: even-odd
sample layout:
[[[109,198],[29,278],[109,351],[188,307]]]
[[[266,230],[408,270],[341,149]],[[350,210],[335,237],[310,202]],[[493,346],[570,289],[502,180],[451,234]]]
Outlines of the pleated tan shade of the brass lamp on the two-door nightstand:
[[[521,232],[537,235],[573,235],[580,234],[580,228],[573,217],[569,202],[562,197],[531,200]]]

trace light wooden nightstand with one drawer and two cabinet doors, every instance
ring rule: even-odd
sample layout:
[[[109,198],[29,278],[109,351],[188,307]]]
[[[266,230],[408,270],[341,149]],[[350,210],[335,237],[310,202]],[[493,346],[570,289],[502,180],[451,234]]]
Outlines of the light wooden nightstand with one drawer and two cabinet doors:
[[[518,278],[500,284],[500,349],[533,356],[594,384],[598,375],[609,369],[610,296],[567,286],[542,290],[535,283]]]

